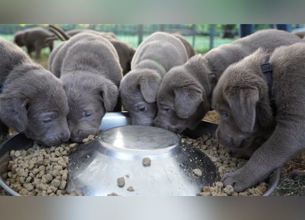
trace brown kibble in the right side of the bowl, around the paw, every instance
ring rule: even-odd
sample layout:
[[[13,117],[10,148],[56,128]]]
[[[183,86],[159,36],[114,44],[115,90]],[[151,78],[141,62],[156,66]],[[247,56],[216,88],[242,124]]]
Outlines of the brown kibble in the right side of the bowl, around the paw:
[[[245,165],[247,160],[238,159],[236,157],[230,156],[230,151],[228,148],[223,147],[217,142],[212,135],[206,134],[202,135],[197,139],[191,139],[189,137],[182,137],[182,142],[187,144],[192,144],[193,146],[199,148],[201,151],[206,153],[208,157],[214,162],[215,166],[218,168],[218,173],[220,177],[223,177],[225,173],[241,168]],[[193,173],[197,173],[197,169],[193,170]],[[231,195],[231,196],[250,196],[250,195],[263,195],[267,190],[267,184],[265,182],[260,183],[256,187],[248,188],[244,192],[234,192],[232,186],[223,186],[221,181],[216,181],[213,186],[204,186],[202,192],[198,195],[202,196],[215,196],[215,195]]]

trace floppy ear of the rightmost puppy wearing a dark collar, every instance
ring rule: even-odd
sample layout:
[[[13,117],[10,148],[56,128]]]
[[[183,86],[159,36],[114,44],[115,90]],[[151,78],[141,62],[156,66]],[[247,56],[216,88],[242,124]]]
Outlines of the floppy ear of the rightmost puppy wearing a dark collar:
[[[239,129],[245,133],[251,133],[256,121],[258,89],[240,89],[236,93],[226,95],[225,98],[230,104],[231,113]]]

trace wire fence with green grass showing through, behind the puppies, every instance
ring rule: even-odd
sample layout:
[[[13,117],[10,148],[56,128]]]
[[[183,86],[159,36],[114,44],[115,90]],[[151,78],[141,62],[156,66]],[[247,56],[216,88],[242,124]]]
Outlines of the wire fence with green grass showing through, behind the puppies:
[[[1,35],[13,35],[19,30],[41,26],[48,28],[47,24],[0,24]],[[143,39],[156,31],[178,32],[182,34],[189,43],[193,45],[197,52],[207,52],[213,47],[223,43],[231,43],[240,36],[239,24],[58,24],[58,27],[64,30],[86,28],[101,32],[113,32],[119,39],[137,47]],[[304,24],[291,24],[291,30],[295,28],[304,28]],[[276,28],[273,24],[255,24],[253,31]],[[10,37],[7,37],[10,39]]]

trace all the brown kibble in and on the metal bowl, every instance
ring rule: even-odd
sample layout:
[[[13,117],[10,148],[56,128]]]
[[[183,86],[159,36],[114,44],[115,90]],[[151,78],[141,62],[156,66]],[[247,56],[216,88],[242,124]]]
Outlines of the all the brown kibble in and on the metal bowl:
[[[90,135],[83,142],[93,140],[95,136]],[[220,177],[237,168],[241,168],[247,162],[245,159],[230,157],[228,148],[224,148],[210,134],[202,135],[197,139],[191,139],[182,136],[182,142],[192,144],[206,153],[217,166]],[[60,146],[51,146],[45,148],[39,144],[34,144],[31,148],[23,151],[10,151],[12,159],[8,162],[8,171],[3,173],[2,177],[6,184],[14,191],[21,195],[40,195],[40,196],[56,196],[68,195],[65,192],[66,180],[68,177],[67,165],[69,162],[68,153],[77,146],[77,144],[62,144]],[[143,158],[143,166],[150,166],[151,159]],[[202,175],[200,168],[194,168],[193,173],[197,176]],[[129,175],[125,175],[129,177]],[[117,179],[119,187],[125,186],[124,177]],[[244,192],[234,192],[232,186],[223,186],[221,181],[216,181],[213,186],[203,186],[202,192],[198,195],[215,196],[250,196],[263,195],[268,185],[265,182],[258,186],[248,188]],[[128,191],[133,192],[134,188],[129,186]],[[82,195],[80,190],[69,195]],[[109,196],[118,196],[112,192]]]

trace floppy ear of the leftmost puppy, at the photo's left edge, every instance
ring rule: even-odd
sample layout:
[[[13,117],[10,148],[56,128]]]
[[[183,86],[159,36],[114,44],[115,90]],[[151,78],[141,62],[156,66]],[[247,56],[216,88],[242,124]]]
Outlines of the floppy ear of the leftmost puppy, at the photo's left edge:
[[[18,132],[25,131],[27,127],[26,100],[19,98],[0,98],[0,119],[6,126]]]

